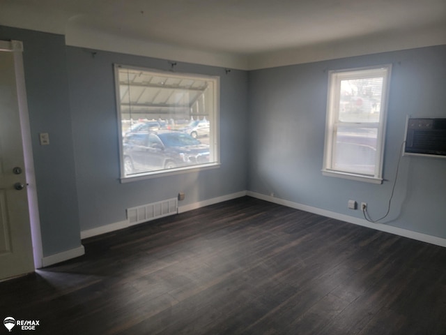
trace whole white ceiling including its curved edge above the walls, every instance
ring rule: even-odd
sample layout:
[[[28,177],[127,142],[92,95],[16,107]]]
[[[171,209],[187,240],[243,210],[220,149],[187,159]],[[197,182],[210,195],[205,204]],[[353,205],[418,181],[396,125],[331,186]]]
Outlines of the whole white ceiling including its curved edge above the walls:
[[[0,0],[0,9],[0,24],[65,34],[68,45],[246,69],[446,43],[446,0]]]

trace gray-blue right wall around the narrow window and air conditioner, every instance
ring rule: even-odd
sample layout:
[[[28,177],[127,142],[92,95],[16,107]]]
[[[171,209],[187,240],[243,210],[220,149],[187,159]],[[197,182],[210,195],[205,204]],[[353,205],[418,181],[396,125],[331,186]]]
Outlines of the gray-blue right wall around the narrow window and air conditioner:
[[[328,70],[393,64],[382,185],[324,177]],[[446,117],[446,45],[249,72],[248,189],[362,218],[387,211],[406,116]],[[401,158],[383,223],[446,238],[446,160]]]

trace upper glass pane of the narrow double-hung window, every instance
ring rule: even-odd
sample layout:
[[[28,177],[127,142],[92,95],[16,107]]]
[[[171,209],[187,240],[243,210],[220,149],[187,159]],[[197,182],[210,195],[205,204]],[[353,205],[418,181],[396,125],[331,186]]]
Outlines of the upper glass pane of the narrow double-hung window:
[[[379,122],[383,77],[341,80],[339,121]]]

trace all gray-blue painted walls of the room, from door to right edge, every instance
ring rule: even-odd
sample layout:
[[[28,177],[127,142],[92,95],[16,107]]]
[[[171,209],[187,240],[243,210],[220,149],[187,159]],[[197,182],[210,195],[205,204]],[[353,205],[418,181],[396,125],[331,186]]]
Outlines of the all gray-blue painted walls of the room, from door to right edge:
[[[45,256],[80,245],[80,230],[125,220],[125,209],[186,193],[187,205],[238,191],[362,217],[348,199],[387,209],[407,114],[446,117],[446,46],[266,70],[178,62],[175,70],[219,75],[219,169],[121,184],[113,64],[169,70],[167,60],[66,47],[63,36],[0,27],[24,42],[40,223]],[[321,174],[327,71],[394,65],[382,185]],[[38,144],[49,133],[50,145]],[[390,225],[446,238],[446,160],[403,157]]]

